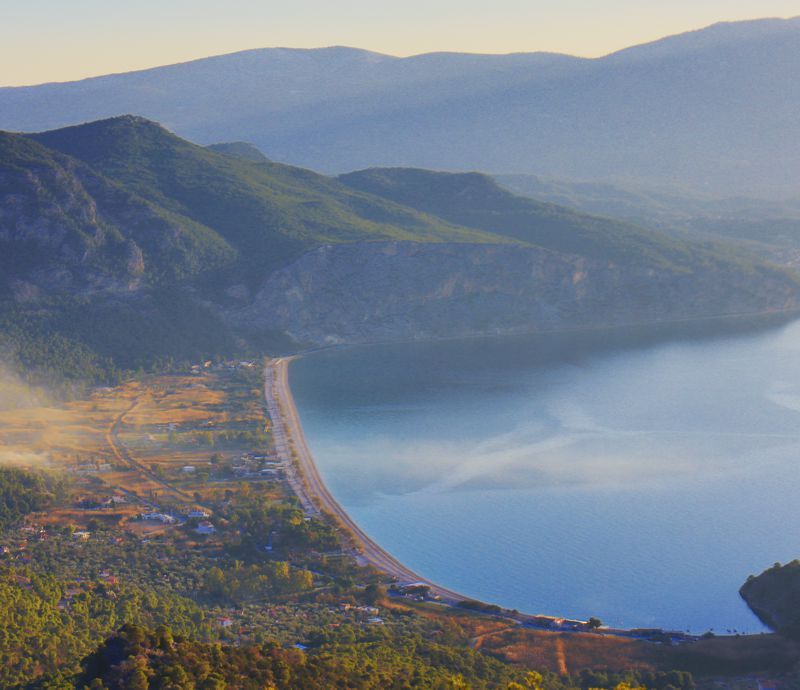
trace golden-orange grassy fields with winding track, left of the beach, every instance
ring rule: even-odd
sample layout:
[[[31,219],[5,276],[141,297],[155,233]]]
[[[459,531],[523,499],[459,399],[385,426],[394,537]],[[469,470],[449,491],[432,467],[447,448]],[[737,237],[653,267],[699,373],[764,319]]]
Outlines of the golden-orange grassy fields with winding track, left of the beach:
[[[126,501],[102,511],[62,507],[43,523],[85,527],[102,519],[141,532],[130,521],[141,512],[188,510],[241,487],[243,473],[231,468],[269,446],[257,378],[255,367],[200,368],[98,389],[62,406],[0,411],[0,458],[66,473],[84,504]],[[285,497],[272,484],[274,498]]]

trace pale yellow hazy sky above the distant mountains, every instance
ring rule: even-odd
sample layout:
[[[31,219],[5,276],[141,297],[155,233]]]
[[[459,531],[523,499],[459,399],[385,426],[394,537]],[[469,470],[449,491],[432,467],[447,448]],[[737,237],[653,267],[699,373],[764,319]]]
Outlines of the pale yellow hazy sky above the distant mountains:
[[[0,0],[0,85],[66,81],[247,48],[597,56],[800,0]]]

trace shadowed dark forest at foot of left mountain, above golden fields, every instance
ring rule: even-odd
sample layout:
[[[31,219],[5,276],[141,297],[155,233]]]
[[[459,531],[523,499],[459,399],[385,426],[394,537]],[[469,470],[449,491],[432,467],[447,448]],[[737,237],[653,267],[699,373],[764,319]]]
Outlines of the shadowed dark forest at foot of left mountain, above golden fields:
[[[219,315],[166,286],[35,305],[0,303],[0,361],[56,394],[79,393],[86,383],[115,385],[140,370],[170,371],[252,352]]]

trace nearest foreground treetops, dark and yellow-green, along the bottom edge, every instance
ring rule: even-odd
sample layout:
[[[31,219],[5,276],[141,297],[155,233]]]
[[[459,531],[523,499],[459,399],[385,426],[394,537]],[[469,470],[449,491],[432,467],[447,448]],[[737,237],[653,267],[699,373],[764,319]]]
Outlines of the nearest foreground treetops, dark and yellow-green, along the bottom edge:
[[[49,690],[691,690],[681,672],[585,673],[571,680],[511,668],[469,649],[393,636],[372,628],[347,644],[313,654],[273,643],[260,647],[200,644],[162,626],[125,625],[84,661],[81,673],[39,682]],[[647,686],[641,683],[649,683]]]

